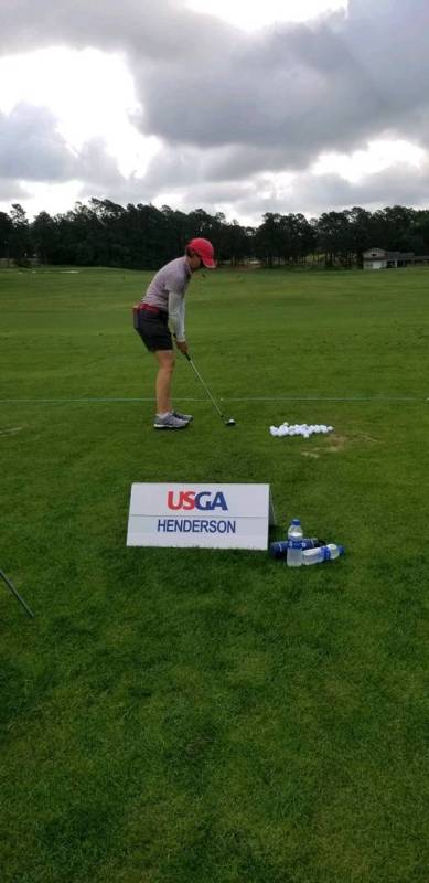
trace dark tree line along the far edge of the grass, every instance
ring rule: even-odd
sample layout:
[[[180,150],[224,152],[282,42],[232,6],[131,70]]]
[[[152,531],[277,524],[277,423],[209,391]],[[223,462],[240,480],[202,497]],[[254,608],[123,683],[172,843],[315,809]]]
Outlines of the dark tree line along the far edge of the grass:
[[[368,212],[362,208],[303,214],[267,212],[259,226],[228,222],[222,212],[187,214],[169,205],[127,208],[110,200],[77,202],[72,211],[29,221],[14,203],[0,212],[0,258],[43,264],[157,269],[182,254],[194,236],[210,240],[221,263],[259,260],[264,266],[352,267],[372,247],[429,253],[429,210],[401,205]]]

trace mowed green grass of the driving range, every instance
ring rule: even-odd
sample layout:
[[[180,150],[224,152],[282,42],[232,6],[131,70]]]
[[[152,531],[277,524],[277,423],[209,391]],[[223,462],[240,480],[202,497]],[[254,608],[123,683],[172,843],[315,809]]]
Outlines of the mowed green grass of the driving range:
[[[150,276],[0,273],[1,881],[427,883],[429,272],[195,276],[237,426],[179,355],[176,434]],[[127,549],[133,481],[270,482],[346,555]]]

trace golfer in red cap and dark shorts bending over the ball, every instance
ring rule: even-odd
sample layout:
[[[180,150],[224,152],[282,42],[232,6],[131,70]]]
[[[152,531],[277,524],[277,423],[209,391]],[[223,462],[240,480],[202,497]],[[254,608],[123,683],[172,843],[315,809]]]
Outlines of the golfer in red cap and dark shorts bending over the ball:
[[[210,269],[216,266],[213,245],[208,240],[191,240],[184,256],[171,260],[157,273],[144,297],[133,308],[135,329],[158,362],[155,429],[184,429],[192,421],[191,414],[174,411],[171,402],[175,363],[171,331],[178,349],[186,353],[184,297],[192,274],[203,266]]]

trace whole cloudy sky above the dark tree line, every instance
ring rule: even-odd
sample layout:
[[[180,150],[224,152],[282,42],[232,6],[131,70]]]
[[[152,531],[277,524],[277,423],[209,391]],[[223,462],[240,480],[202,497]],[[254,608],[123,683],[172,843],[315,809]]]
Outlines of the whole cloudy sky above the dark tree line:
[[[0,209],[429,206],[428,0],[2,0]]]

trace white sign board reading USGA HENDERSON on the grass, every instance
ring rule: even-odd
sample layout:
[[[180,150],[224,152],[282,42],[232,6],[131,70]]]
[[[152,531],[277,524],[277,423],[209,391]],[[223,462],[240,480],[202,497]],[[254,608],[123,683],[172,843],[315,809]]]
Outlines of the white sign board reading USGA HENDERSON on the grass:
[[[269,485],[132,485],[127,545],[267,549]]]

